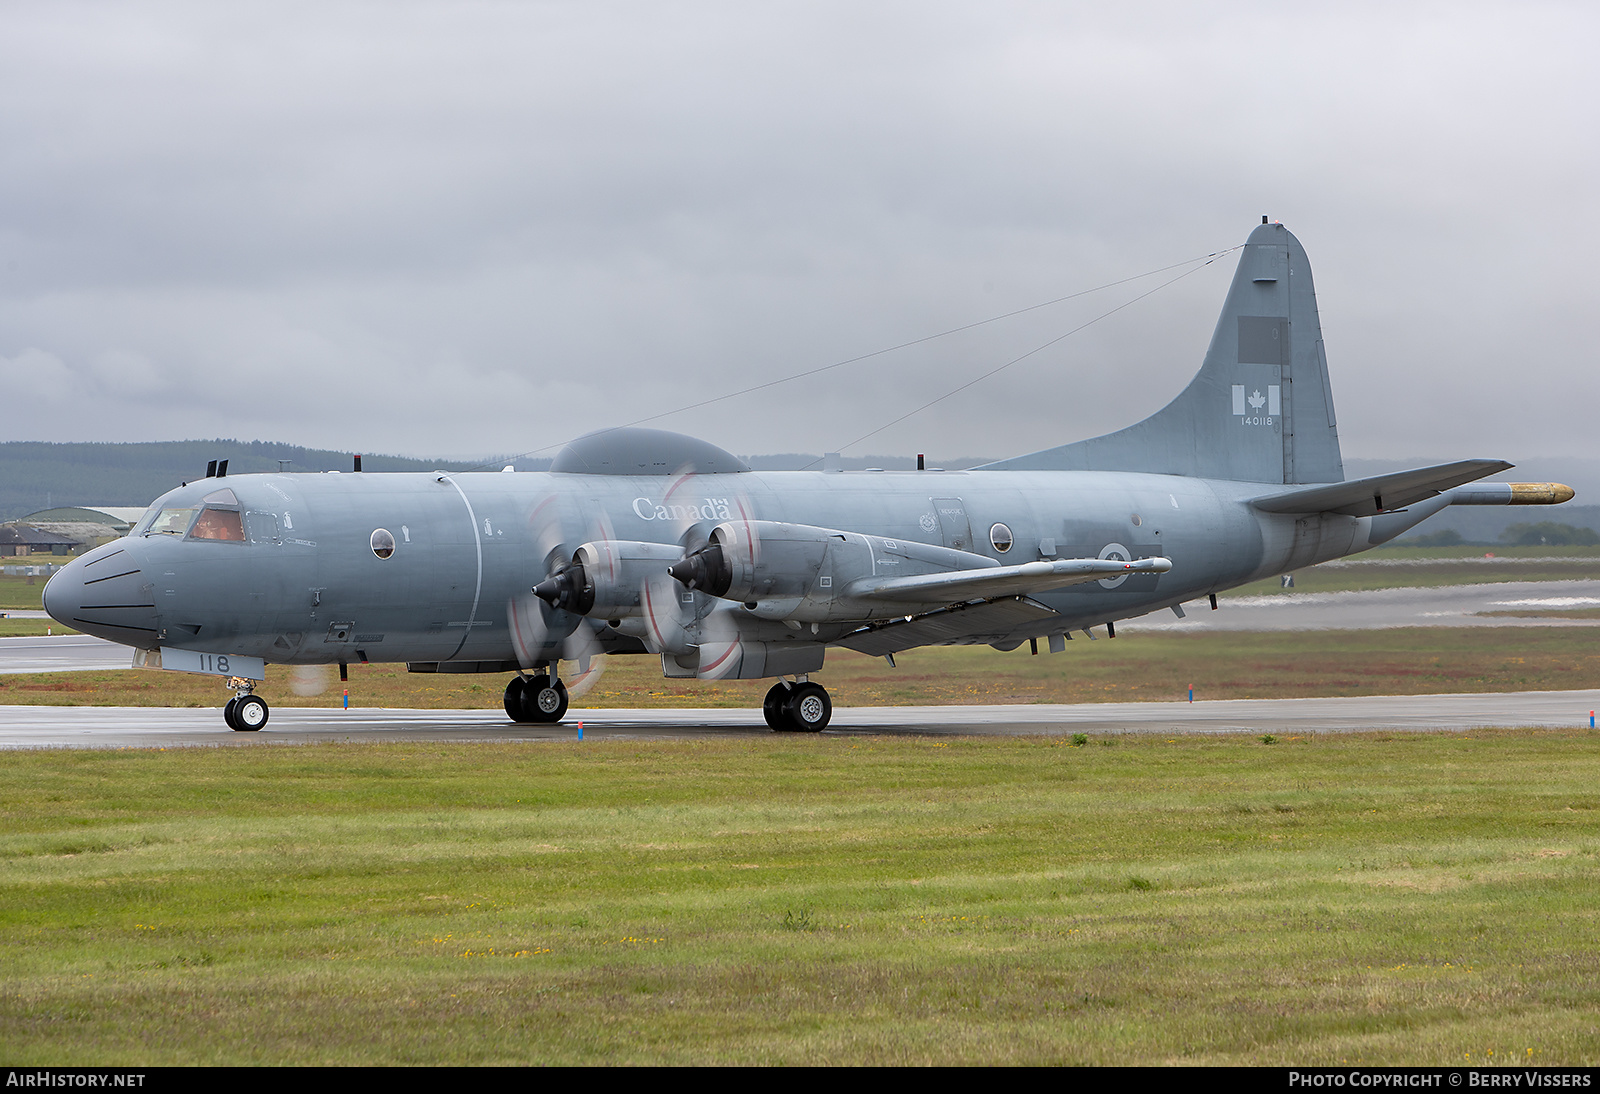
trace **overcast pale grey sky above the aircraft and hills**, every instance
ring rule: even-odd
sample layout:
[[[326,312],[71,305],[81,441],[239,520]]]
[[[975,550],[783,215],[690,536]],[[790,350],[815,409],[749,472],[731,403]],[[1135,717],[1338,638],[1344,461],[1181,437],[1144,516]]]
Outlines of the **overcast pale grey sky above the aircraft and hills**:
[[[0,440],[539,451],[1242,243],[1346,456],[1595,451],[1594,5],[0,6]],[[654,425],[1000,457],[1198,368],[1234,256]]]

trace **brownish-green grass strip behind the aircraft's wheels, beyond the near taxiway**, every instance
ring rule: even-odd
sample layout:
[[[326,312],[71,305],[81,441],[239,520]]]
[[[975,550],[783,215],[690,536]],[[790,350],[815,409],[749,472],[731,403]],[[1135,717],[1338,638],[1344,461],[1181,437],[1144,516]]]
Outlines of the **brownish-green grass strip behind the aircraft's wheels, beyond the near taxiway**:
[[[1285,633],[1125,632],[1082,637],[1061,654],[1027,646],[931,646],[880,657],[832,649],[818,673],[834,704],[926,705],[1397,696],[1469,691],[1562,691],[1600,686],[1600,633],[1571,627],[1406,627]],[[350,705],[498,709],[507,675],[406,673],[350,665]],[[342,689],[320,672],[318,696],[294,694],[293,675],[267,667],[259,694],[272,705],[333,707]],[[581,707],[755,707],[771,681],[664,680],[654,657],[610,657]],[[227,699],[211,677],[176,672],[0,675],[0,705],[211,707]]]

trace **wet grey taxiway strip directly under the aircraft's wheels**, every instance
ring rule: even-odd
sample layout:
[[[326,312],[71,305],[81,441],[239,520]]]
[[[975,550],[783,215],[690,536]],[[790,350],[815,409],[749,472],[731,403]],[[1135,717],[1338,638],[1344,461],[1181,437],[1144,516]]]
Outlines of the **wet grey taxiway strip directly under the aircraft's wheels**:
[[[1006,707],[838,707],[826,731],[853,734],[1312,734],[1475,726],[1581,728],[1595,691],[1354,699],[1222,699]],[[0,707],[0,749],[174,749],[334,741],[666,741],[771,736],[758,710],[573,710],[560,726],[515,725],[498,710],[339,710],[280,707],[261,733],[234,733],[219,709]]]

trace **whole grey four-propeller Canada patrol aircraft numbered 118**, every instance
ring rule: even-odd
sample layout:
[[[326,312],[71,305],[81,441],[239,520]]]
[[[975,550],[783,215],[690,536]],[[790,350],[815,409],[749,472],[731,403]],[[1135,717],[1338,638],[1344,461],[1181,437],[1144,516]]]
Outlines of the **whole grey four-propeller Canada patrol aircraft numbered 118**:
[[[512,672],[506,713],[554,723],[602,654],[776,677],[768,725],[818,731],[829,646],[891,664],[925,645],[1061,651],[1445,505],[1573,496],[1469,485],[1509,467],[1344,478],[1310,264],[1262,218],[1200,373],[1115,433],[962,472],[763,473],[651,429],[590,433],[538,473],[227,477],[224,461],[61,569],[45,608],[134,664],[227,678],[240,731],[267,723],[269,662]]]

